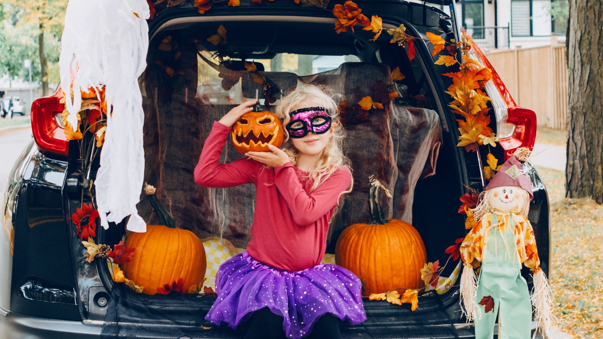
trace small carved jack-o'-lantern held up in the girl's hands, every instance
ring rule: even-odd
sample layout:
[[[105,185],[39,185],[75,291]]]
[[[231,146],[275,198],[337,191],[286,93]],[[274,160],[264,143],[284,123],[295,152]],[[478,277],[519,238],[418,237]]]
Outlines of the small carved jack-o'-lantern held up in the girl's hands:
[[[280,147],[285,135],[279,117],[268,111],[247,112],[232,126],[232,144],[240,153],[270,152],[268,145]]]

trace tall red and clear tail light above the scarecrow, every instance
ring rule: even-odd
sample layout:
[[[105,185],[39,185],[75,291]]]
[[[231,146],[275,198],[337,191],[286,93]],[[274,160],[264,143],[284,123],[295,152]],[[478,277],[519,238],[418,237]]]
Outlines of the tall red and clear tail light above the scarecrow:
[[[518,147],[528,147],[531,150],[536,140],[536,114],[533,110],[519,107],[515,103],[484,52],[475,43],[472,47],[470,57],[492,71],[492,80],[486,83],[486,92],[492,99],[496,115],[496,135],[499,137],[500,147],[505,150],[505,160],[513,155]]]

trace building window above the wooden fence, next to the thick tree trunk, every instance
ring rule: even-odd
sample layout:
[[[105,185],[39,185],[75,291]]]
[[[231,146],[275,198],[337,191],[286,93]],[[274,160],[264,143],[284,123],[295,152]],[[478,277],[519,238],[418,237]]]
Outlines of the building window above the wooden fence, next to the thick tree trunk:
[[[568,13],[567,0],[512,0],[511,35],[565,34]]]

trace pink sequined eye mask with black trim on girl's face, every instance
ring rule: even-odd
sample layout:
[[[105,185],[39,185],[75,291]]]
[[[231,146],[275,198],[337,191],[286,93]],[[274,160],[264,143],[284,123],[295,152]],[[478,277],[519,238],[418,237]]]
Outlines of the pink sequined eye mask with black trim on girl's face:
[[[296,109],[289,113],[289,116],[291,121],[289,121],[286,128],[291,138],[303,138],[309,132],[322,134],[331,128],[331,117],[324,107]],[[298,122],[301,122],[301,124]]]

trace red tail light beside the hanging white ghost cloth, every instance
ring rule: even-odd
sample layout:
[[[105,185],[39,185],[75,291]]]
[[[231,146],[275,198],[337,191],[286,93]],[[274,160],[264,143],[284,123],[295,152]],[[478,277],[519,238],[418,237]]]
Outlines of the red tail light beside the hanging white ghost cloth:
[[[51,97],[34,100],[31,104],[31,131],[40,151],[68,156],[69,141],[55,118],[65,107],[60,100],[58,92]]]

